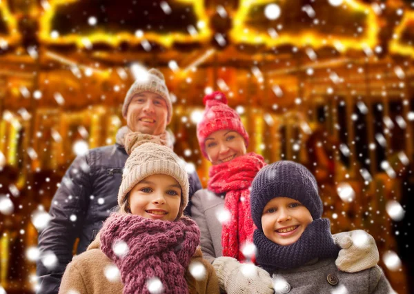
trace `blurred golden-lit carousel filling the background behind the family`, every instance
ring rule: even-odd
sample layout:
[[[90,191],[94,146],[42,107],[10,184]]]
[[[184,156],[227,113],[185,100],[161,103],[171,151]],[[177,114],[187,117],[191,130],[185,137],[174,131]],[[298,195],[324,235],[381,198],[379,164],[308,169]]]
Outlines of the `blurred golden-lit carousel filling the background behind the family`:
[[[6,293],[36,288],[37,230],[57,185],[76,155],[114,144],[144,67],[164,72],[175,152],[204,186],[195,124],[202,97],[221,90],[248,150],[310,168],[333,233],[371,233],[393,288],[413,293],[411,1],[8,0],[0,15]]]

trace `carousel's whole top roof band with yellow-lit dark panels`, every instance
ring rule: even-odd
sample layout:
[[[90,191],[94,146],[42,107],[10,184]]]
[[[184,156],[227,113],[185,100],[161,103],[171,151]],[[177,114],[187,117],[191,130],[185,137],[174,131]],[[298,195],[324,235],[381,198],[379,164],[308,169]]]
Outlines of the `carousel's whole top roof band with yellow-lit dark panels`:
[[[229,46],[248,54],[312,48],[369,55],[382,46],[385,53],[414,55],[414,12],[404,1],[44,0],[23,6],[15,0],[0,3],[3,54],[34,46],[122,63],[119,55],[129,62],[153,59],[157,52],[161,64],[173,55],[163,59],[167,48],[176,55]]]

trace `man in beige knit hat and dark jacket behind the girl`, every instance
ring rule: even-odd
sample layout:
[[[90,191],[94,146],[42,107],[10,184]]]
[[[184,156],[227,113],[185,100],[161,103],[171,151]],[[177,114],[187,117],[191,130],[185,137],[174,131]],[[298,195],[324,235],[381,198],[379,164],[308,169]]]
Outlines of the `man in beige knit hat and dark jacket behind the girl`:
[[[128,157],[126,137],[139,132],[157,137],[172,148],[166,131],[172,115],[172,104],[164,76],[159,70],[148,70],[128,90],[122,107],[127,126],[117,133],[117,143],[95,148],[72,162],[50,206],[50,222],[39,235],[41,258],[37,262],[38,293],[57,293],[66,265],[72,260],[72,248],[79,237],[77,254],[95,239],[103,221],[117,205],[122,170]],[[126,144],[125,144],[126,143]],[[129,143],[129,144],[128,144]],[[190,195],[201,188],[197,173],[189,175]],[[42,259],[48,253],[57,257],[49,266]],[[48,265],[48,266],[45,266]]]

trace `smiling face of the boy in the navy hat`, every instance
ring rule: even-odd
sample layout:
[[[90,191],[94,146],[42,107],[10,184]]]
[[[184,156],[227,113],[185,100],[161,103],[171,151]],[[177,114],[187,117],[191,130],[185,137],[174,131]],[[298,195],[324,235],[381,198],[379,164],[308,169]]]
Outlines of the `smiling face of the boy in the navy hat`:
[[[271,199],[262,213],[264,235],[282,246],[295,243],[312,221],[308,208],[288,197]]]

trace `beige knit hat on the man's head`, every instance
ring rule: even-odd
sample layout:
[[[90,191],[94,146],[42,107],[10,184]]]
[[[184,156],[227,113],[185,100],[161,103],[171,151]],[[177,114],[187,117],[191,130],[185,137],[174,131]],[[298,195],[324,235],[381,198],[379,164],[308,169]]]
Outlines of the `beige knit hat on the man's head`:
[[[168,92],[164,75],[159,70],[157,70],[157,68],[151,68],[150,70],[148,70],[148,72],[146,72],[144,77],[139,77],[134,82],[134,84],[130,86],[124,99],[124,105],[122,106],[122,116],[126,117],[126,113],[128,112],[128,106],[131,102],[132,97],[134,97],[134,95],[146,91],[153,92],[164,98],[167,104],[168,111],[167,124],[170,124],[172,115],[170,93]]]

